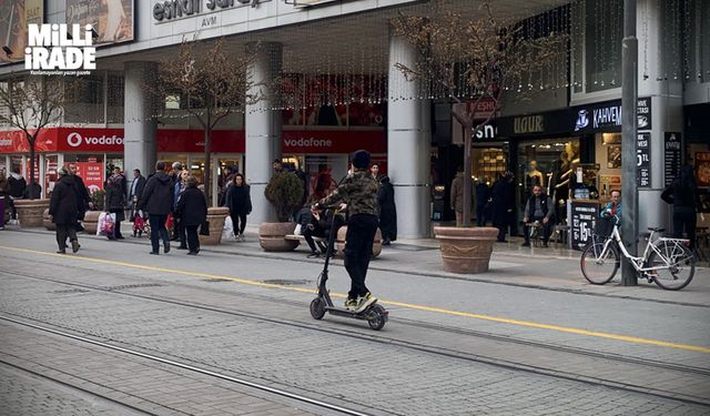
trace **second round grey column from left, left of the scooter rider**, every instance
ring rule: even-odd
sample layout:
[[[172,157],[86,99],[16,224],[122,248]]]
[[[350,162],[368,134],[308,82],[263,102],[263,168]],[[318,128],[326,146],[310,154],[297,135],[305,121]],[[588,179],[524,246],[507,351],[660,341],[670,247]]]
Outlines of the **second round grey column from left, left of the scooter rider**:
[[[250,45],[248,48],[253,48]],[[281,72],[283,63],[283,48],[281,43],[258,44],[254,64],[247,69],[251,81],[256,84],[250,93],[261,90],[263,100],[246,105],[246,182],[251,185],[252,223],[276,221],[276,212],[264,196],[264,190],[272,176],[271,164],[274,159],[281,159],[282,150],[282,116],[281,111],[271,110],[277,102],[276,92],[270,87]]]

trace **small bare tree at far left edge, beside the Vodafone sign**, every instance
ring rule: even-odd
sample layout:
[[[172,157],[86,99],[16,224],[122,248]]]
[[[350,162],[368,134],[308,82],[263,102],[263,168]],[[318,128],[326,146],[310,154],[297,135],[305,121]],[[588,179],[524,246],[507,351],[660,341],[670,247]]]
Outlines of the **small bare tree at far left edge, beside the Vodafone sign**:
[[[57,78],[14,77],[0,82],[0,123],[19,129],[30,148],[31,200],[39,197],[34,193],[34,149],[37,138],[52,121],[57,121],[67,103],[67,89],[72,83]]]

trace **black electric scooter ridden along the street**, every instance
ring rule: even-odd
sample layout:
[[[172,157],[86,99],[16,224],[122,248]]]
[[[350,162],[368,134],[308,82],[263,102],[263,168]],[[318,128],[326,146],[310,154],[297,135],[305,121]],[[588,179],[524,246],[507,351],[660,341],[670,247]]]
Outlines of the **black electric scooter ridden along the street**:
[[[331,298],[331,291],[328,291],[326,287],[326,282],[328,281],[328,264],[331,262],[331,255],[333,252],[333,243],[335,241],[335,216],[337,215],[337,210],[335,210],[333,213],[333,219],[331,220],[328,245],[326,246],[325,251],[325,264],[323,265],[323,272],[321,272],[317,281],[318,295],[311,302],[311,316],[313,316],[314,319],[322,319],[327,312],[336,316],[367,321],[371,328],[379,331],[385,326],[385,323],[387,322],[387,318],[389,316],[389,312],[387,312],[384,306],[375,302],[361,312],[346,310],[344,307],[336,307],[333,304],[333,300]]]

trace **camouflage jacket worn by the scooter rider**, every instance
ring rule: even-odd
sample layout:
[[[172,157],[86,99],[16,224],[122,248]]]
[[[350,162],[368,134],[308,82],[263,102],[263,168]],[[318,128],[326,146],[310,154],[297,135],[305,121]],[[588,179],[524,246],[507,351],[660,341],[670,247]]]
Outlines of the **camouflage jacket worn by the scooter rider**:
[[[347,175],[329,195],[318,201],[318,205],[329,206],[338,202],[347,204],[347,213],[371,214],[377,216],[377,181],[367,170],[356,170]]]

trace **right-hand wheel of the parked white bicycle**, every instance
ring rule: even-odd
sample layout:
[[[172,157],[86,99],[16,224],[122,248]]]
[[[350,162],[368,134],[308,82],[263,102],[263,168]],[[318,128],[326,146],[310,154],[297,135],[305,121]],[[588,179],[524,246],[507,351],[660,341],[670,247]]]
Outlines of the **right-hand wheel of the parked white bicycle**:
[[[667,291],[680,291],[688,286],[696,274],[696,257],[684,245],[672,241],[657,241],[651,251],[647,267],[659,267],[649,274],[657,285]]]

